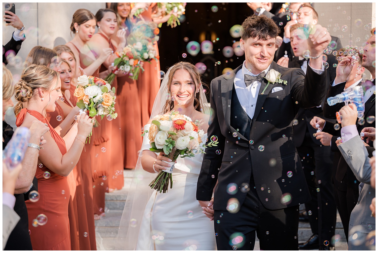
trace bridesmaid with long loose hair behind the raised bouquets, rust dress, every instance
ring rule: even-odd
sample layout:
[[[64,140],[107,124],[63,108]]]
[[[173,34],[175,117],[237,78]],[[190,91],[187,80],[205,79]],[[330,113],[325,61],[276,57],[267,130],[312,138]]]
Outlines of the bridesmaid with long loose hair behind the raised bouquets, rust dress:
[[[118,28],[126,30],[127,38],[132,29],[129,20],[131,10],[130,3],[111,3],[110,8],[115,10],[118,19]],[[120,43],[119,39],[118,43]],[[149,65],[149,63],[144,64],[143,66],[145,65]],[[139,78],[141,75],[139,75]],[[121,109],[120,111],[122,112],[121,129],[122,139],[125,145],[124,168],[134,169],[136,161],[138,160],[138,150],[142,145],[141,101],[139,99],[138,87],[135,80],[132,80],[128,75],[125,75],[117,77],[117,82],[118,89],[116,95]]]

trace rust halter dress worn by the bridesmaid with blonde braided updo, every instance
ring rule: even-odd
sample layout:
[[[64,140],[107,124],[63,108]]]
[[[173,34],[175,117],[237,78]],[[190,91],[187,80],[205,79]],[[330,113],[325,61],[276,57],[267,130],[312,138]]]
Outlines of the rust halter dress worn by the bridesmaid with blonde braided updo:
[[[67,152],[64,140],[40,113],[23,108],[17,114],[16,125],[20,126],[22,124],[26,113],[48,125],[51,137],[59,147],[60,153],[64,155]],[[49,174],[50,177],[48,177]],[[67,177],[54,173],[43,164],[37,166],[35,176],[38,179],[40,199],[37,202],[25,201],[28,209],[30,239],[33,250],[71,250],[70,224],[68,222],[70,187],[68,186]],[[40,224],[34,227],[32,225],[33,220],[38,219],[39,215],[46,216],[47,222],[44,225]]]

